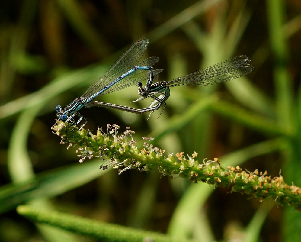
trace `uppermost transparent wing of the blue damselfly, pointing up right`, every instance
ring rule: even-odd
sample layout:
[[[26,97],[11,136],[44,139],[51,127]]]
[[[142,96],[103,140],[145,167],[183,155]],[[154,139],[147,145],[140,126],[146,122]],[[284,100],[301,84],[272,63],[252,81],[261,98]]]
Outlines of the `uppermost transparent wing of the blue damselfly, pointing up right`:
[[[149,44],[149,39],[143,38],[134,43],[122,56],[94,82],[87,91],[81,96],[82,99],[88,98],[97,93],[105,86],[112,83],[122,74],[136,66],[136,63],[141,59]]]

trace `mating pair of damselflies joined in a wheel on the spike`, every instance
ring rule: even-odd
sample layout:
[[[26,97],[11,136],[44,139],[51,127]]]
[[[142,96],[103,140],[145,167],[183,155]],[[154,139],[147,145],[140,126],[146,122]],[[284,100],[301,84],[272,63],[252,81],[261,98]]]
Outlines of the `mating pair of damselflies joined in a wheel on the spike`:
[[[162,113],[166,106],[166,100],[170,96],[169,88],[172,86],[212,85],[244,76],[254,70],[254,67],[250,64],[251,60],[245,55],[240,55],[171,81],[153,83],[154,76],[162,72],[162,69],[153,69],[153,65],[159,61],[159,57],[149,57],[140,61],[148,44],[149,39],[147,38],[138,40],[81,97],[76,98],[64,109],[57,105],[55,109],[59,119],[71,122],[73,126],[77,126],[83,120],[84,124],[81,126],[83,127],[88,122],[88,119],[78,111],[83,107],[90,108],[93,106],[114,108],[137,114],[151,112],[151,115],[163,105]],[[146,81],[144,88],[142,81]],[[153,98],[154,101],[149,107],[137,109],[94,101],[100,95],[116,92],[135,84],[138,86],[140,98],[133,102],[148,97]]]

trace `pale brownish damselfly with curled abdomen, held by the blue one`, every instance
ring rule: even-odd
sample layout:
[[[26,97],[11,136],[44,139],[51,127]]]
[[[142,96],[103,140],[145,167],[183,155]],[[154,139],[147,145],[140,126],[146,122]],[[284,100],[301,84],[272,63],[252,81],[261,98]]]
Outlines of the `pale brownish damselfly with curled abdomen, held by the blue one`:
[[[248,73],[253,71],[254,67],[250,64],[250,61],[251,60],[248,59],[247,56],[240,55],[240,56],[233,57],[229,60],[223,61],[221,63],[215,64],[213,66],[209,66],[197,72],[188,74],[186,76],[175,78],[171,81],[161,81],[161,82],[153,83],[147,88],[143,88],[142,83],[138,82],[137,84],[138,95],[141,97],[133,102],[137,102],[147,97],[152,97],[155,99],[155,101],[152,102],[152,104],[148,108],[135,109],[126,106],[104,103],[104,102],[97,102],[97,101],[92,101],[86,106],[114,108],[123,111],[138,113],[138,114],[152,111],[150,113],[151,115],[155,110],[159,109],[161,105],[164,105],[160,113],[161,115],[166,106],[166,100],[170,96],[170,90],[169,90],[170,87],[180,86],[180,85],[207,86],[207,85],[217,84],[220,82],[226,82],[238,78],[240,76],[247,75]],[[158,71],[161,72],[161,70]],[[154,72],[157,74],[157,70],[154,70]],[[161,95],[157,97],[155,96],[157,94],[161,94]]]

